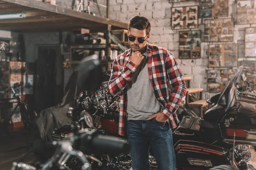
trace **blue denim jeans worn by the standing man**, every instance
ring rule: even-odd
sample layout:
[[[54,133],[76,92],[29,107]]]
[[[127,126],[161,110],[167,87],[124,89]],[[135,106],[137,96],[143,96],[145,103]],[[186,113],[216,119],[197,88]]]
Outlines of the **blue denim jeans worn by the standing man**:
[[[152,120],[127,121],[133,170],[149,170],[149,144],[157,161],[158,170],[175,170],[176,161],[169,124]]]

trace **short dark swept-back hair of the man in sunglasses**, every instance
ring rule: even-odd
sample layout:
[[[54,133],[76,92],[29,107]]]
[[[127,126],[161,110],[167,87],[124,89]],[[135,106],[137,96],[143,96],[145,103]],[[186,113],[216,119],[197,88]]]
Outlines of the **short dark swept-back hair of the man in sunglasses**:
[[[138,30],[146,30],[146,34],[149,34],[150,32],[150,23],[146,17],[141,17],[141,16],[134,16],[131,17],[129,21],[129,29],[131,28],[136,28]]]

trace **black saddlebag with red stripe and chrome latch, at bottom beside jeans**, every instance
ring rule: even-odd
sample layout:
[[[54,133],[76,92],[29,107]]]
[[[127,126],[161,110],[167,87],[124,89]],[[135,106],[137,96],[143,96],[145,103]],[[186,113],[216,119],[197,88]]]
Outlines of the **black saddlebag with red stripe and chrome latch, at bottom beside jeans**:
[[[224,148],[203,142],[179,140],[175,146],[176,167],[208,170],[221,164],[230,164]]]

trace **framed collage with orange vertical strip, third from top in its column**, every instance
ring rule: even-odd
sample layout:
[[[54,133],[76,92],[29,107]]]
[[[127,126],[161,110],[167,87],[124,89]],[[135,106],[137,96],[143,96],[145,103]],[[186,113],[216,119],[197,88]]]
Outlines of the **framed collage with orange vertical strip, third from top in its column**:
[[[209,67],[236,67],[237,44],[209,45]]]

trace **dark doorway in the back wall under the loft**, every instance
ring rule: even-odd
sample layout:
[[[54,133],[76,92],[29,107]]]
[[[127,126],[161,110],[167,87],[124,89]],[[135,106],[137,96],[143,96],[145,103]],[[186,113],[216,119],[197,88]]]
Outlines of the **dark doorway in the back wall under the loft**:
[[[64,69],[60,45],[38,46],[36,61],[36,111],[61,102],[64,95]]]

